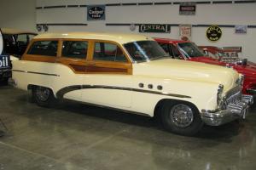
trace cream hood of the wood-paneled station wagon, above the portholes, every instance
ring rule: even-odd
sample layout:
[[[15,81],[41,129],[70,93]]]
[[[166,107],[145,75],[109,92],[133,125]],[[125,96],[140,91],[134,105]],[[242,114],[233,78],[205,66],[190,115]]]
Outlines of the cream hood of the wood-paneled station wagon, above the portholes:
[[[214,82],[230,89],[239,74],[232,68],[179,59],[158,59],[133,65],[133,74],[187,81]]]

